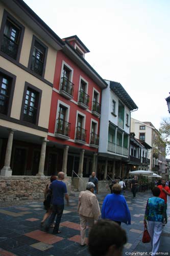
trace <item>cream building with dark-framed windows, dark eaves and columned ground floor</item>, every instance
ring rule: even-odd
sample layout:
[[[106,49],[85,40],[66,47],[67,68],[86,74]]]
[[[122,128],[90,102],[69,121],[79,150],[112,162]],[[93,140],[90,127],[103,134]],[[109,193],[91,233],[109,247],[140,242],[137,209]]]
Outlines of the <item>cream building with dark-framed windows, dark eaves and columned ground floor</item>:
[[[0,24],[1,176],[42,176],[56,57],[64,42],[23,1],[1,0]]]

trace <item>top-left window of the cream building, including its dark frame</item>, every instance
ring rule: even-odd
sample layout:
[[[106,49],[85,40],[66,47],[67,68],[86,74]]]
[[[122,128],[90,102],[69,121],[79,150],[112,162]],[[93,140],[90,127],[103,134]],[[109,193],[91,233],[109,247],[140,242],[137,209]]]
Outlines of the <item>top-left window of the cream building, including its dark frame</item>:
[[[25,28],[7,11],[4,11],[1,26],[1,52],[19,61]]]

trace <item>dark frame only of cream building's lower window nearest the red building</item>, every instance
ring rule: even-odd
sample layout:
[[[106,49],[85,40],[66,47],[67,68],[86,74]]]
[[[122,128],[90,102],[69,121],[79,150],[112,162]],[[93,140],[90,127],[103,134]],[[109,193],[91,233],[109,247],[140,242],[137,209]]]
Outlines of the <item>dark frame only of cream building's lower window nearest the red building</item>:
[[[37,103],[37,115],[36,115],[36,121],[35,123],[32,123],[34,125],[38,126],[38,121],[39,121],[39,114],[40,114],[40,105],[41,105],[41,97],[42,97],[42,90],[38,89],[37,87],[33,86],[31,83],[25,82],[25,88],[23,91],[23,97],[22,97],[22,105],[21,105],[21,112],[20,112],[20,120],[22,122],[25,123],[31,123],[31,122],[27,122],[25,120],[23,120],[23,112],[24,112],[24,107],[25,107],[25,100],[26,100],[26,94],[27,94],[27,90],[28,88],[30,88],[31,90],[34,90],[35,92],[37,92],[38,95],[38,103]]]

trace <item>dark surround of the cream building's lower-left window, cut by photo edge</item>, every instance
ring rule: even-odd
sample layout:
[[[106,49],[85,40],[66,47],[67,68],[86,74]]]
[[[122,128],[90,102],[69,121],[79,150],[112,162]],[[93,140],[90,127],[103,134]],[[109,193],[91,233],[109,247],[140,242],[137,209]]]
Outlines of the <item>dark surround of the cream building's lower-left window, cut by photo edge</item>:
[[[1,115],[10,117],[11,109],[12,109],[12,101],[13,101],[13,96],[14,96],[16,76],[2,68],[0,68],[0,74],[2,74],[2,75],[4,74],[5,76],[9,77],[9,79],[11,80],[10,81],[11,89],[10,89],[10,97],[9,97],[9,102],[8,102],[8,111],[7,111],[6,115],[1,113]]]

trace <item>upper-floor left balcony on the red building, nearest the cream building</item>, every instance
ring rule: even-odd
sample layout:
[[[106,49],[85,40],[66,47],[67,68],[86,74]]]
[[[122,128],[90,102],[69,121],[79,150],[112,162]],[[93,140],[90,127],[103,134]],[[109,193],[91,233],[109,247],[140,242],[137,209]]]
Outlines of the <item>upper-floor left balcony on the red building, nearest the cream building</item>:
[[[74,83],[70,82],[67,78],[61,78],[60,94],[66,99],[72,99],[74,93]]]

